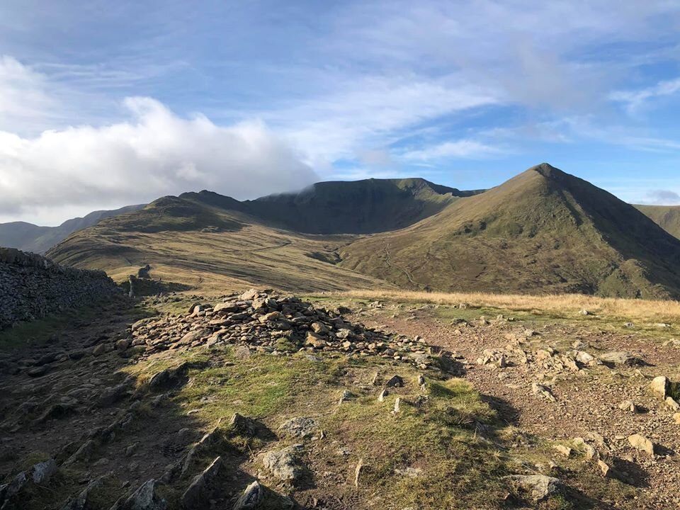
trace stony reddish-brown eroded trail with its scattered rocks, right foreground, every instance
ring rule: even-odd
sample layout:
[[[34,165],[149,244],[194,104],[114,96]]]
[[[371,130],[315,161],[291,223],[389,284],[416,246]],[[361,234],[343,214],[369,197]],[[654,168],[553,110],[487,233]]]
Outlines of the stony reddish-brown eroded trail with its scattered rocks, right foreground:
[[[463,365],[461,376],[508,424],[536,436],[537,450],[550,449],[546,442],[575,450],[574,438],[600,442],[599,455],[610,468],[607,476],[621,481],[621,493],[602,494],[604,502],[626,509],[680,505],[680,415],[650,388],[660,375],[680,380],[680,343],[672,327],[592,316],[567,320],[509,314],[508,320],[484,318],[484,313],[385,303],[363,312],[362,319],[419,334],[428,344],[453,352]],[[628,438],[635,434],[652,441],[653,455],[631,445]],[[585,492],[584,477],[577,480],[572,473],[603,475],[596,462],[573,453],[567,458],[553,450],[552,456],[554,466],[544,471],[573,478]],[[640,491],[633,496],[628,487]]]

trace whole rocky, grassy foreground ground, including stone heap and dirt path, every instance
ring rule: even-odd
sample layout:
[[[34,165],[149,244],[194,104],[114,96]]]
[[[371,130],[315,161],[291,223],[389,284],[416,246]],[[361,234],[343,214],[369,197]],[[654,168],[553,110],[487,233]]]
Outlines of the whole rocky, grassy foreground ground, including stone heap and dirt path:
[[[672,327],[256,290],[144,305],[0,337],[0,509],[680,501]]]

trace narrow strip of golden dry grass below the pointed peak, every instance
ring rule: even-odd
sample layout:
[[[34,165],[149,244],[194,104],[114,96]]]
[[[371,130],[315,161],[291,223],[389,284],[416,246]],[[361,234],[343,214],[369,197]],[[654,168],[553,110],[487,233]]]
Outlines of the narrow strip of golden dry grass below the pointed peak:
[[[325,294],[324,296],[328,296]],[[332,293],[338,297],[397,302],[426,302],[438,305],[466,303],[475,307],[492,307],[517,312],[548,312],[563,315],[588,310],[623,319],[679,320],[680,302],[594,297],[582,294],[515,295],[487,293],[426,293],[409,290],[348,290]]]

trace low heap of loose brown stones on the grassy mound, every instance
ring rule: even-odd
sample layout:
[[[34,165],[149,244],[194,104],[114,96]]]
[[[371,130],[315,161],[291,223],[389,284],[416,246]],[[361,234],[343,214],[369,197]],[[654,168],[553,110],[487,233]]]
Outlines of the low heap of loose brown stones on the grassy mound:
[[[188,314],[142,319],[132,324],[120,350],[145,346],[146,353],[234,344],[273,355],[295,351],[336,351],[380,356],[427,368],[433,361],[420,338],[388,336],[344,319],[350,310],[314,307],[299,297],[251,289],[216,305],[196,303]]]

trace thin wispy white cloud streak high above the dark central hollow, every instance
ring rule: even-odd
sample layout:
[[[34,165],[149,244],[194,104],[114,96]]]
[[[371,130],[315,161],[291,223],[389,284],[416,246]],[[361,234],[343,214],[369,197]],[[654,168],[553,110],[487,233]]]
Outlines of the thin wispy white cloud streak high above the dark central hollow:
[[[263,112],[314,159],[354,157],[389,145],[406,128],[497,103],[491,91],[449,79],[366,77],[336,94],[307,98],[281,111]]]

